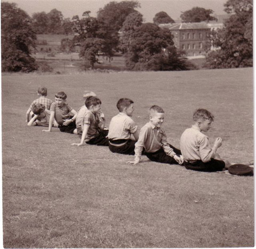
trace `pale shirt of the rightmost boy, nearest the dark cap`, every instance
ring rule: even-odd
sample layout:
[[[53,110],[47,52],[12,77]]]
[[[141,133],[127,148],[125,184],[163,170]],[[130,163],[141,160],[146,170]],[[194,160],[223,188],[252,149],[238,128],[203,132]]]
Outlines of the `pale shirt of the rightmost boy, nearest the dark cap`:
[[[195,125],[182,133],[180,150],[187,162],[195,162],[197,160],[209,162],[215,156],[210,146],[209,138]]]

